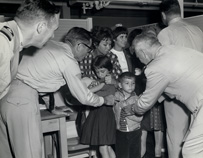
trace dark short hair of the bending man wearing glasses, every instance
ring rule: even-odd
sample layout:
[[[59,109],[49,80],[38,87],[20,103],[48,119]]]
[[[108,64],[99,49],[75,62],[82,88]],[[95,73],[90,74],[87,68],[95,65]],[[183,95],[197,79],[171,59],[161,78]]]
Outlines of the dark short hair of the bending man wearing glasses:
[[[88,44],[91,40],[91,33],[84,28],[81,27],[73,27],[68,31],[68,33],[64,37],[64,42],[70,42],[73,46],[77,43],[77,41]]]

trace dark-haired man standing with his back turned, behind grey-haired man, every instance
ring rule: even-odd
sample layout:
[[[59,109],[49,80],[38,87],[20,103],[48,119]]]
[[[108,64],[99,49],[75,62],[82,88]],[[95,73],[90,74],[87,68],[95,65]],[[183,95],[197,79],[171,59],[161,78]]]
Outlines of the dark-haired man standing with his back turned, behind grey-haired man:
[[[181,18],[177,0],[166,0],[160,5],[162,20],[166,27],[158,34],[162,45],[178,45],[203,52],[203,33]],[[167,146],[169,158],[181,157],[182,141],[189,125],[189,112],[176,100],[164,102],[167,123]],[[178,120],[178,121],[177,121]]]

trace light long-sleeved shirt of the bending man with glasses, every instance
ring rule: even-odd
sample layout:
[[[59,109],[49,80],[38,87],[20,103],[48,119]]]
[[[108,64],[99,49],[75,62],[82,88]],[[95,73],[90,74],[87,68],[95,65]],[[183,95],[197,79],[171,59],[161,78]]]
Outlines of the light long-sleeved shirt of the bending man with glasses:
[[[71,94],[82,104],[99,106],[103,97],[90,92],[81,81],[78,62],[68,44],[49,41],[33,56],[24,56],[17,78],[38,92],[55,92],[67,83]]]

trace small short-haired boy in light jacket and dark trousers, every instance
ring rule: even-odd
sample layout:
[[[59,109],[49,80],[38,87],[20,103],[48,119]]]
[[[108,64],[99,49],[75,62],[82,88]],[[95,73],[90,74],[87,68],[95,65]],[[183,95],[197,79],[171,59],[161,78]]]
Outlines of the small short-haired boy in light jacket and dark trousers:
[[[135,103],[135,75],[124,72],[119,77],[120,89],[115,93],[114,113],[116,117],[116,158],[141,157],[142,116],[127,116],[123,107]]]

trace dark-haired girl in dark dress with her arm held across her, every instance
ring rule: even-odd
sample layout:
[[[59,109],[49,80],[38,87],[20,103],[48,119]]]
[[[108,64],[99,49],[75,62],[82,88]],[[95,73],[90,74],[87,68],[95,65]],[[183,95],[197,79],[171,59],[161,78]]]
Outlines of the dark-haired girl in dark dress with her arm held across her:
[[[100,96],[114,95],[115,86],[105,83],[105,77],[111,75],[113,69],[110,59],[105,55],[99,55],[93,60],[92,68],[99,79],[93,81],[90,78],[84,78],[83,81],[86,81],[88,88]],[[102,158],[115,158],[114,150],[111,147],[116,141],[113,108],[107,105],[91,108],[83,126],[81,143],[99,146]]]

